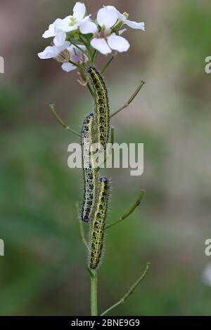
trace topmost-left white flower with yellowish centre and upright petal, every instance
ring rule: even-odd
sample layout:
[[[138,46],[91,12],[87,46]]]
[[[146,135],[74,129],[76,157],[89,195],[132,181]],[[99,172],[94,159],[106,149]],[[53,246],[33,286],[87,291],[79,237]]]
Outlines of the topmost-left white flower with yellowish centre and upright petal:
[[[78,29],[78,27],[89,20],[89,16],[84,17],[86,14],[86,6],[81,2],[77,2],[73,8],[73,15],[69,15],[63,20],[58,20],[55,23],[56,29],[63,32],[71,32]]]

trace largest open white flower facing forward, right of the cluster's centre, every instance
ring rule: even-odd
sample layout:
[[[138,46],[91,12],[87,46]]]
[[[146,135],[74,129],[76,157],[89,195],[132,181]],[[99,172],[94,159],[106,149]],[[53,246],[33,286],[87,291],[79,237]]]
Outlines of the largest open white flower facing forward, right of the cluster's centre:
[[[118,20],[117,13],[110,8],[101,8],[98,11],[97,22],[101,27],[101,32],[98,32],[98,27],[94,22],[87,20],[82,22],[79,29],[82,34],[94,34],[91,39],[91,46],[102,54],[108,54],[112,51],[128,51],[129,43],[123,37],[117,36],[112,32],[112,27]]]

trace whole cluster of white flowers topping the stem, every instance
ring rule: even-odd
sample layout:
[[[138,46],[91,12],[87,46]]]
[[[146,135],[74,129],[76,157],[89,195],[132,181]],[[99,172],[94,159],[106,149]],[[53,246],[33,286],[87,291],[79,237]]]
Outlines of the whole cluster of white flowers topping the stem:
[[[114,6],[103,6],[96,20],[92,20],[91,15],[87,15],[86,6],[77,2],[72,15],[58,18],[49,25],[42,37],[53,37],[53,41],[38,56],[41,59],[54,58],[62,63],[63,70],[70,72],[77,67],[83,70],[88,61],[94,65],[97,52],[107,55],[113,51],[128,51],[129,42],[122,37],[126,30],[124,25],[145,30],[143,22],[133,22],[128,17]]]

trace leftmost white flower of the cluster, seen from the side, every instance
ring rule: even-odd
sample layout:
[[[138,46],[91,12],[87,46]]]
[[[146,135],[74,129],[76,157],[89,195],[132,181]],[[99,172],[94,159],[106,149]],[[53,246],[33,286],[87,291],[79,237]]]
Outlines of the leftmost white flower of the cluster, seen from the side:
[[[60,53],[62,53],[68,46],[70,46],[70,41],[65,41],[65,32],[58,32],[56,37],[53,39],[53,46],[47,46],[44,51],[38,54],[41,60],[46,60],[49,58],[56,58]]]

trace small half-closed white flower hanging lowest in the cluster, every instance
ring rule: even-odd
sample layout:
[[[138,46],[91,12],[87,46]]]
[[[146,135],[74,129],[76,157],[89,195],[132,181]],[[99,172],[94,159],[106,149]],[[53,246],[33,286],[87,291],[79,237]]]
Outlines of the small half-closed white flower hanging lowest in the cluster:
[[[78,46],[82,49],[82,51],[87,50],[87,48],[83,45],[78,45]],[[67,49],[70,53],[70,60],[72,62],[82,63],[82,62],[87,62],[88,61],[87,55],[84,55],[84,53],[82,51],[80,51],[77,47],[71,45]],[[65,62],[65,63],[63,63],[62,68],[63,68],[64,71],[70,72],[72,70],[77,69],[77,66],[73,65],[70,62]]]

